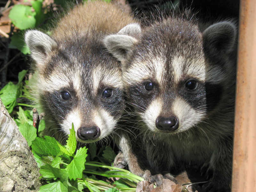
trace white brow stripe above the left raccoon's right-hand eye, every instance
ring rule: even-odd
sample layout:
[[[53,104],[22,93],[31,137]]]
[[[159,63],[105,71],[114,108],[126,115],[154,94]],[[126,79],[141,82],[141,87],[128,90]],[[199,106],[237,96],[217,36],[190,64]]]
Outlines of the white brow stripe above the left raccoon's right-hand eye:
[[[97,66],[92,71],[93,92],[97,94],[100,84],[110,87],[123,88],[121,72],[118,68],[106,70],[101,66]]]

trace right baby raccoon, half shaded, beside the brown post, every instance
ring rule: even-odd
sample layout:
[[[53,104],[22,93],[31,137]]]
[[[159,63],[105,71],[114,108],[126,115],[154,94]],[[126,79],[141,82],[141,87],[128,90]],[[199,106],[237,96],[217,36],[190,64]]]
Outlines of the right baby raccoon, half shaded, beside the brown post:
[[[137,139],[120,142],[130,171],[160,185],[162,175],[186,170],[192,182],[209,180],[200,192],[230,191],[236,25],[222,21],[200,32],[171,17],[144,29],[129,24],[104,44],[121,61],[138,119]]]

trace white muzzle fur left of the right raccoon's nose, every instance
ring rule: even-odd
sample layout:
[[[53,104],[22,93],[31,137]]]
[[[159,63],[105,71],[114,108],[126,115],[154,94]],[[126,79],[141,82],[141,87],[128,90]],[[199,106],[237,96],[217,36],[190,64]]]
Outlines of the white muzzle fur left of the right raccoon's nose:
[[[152,131],[156,131],[156,118],[160,115],[163,107],[163,101],[160,98],[156,98],[148,106],[148,109],[143,113],[142,119],[147,124],[148,128]]]

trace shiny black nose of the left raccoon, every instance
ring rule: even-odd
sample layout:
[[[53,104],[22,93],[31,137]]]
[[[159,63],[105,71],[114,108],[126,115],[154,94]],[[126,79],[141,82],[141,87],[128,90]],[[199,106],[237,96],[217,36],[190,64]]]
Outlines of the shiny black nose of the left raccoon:
[[[81,140],[94,140],[100,137],[100,128],[97,126],[80,127],[77,130],[77,136]]]

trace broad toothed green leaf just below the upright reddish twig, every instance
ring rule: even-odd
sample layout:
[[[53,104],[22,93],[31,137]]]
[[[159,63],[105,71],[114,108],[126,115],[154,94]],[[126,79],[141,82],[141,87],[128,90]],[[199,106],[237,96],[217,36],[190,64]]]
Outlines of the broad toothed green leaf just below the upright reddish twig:
[[[44,139],[36,137],[32,142],[32,152],[39,156],[56,157],[60,152],[57,142],[55,138],[49,136],[44,136]]]

